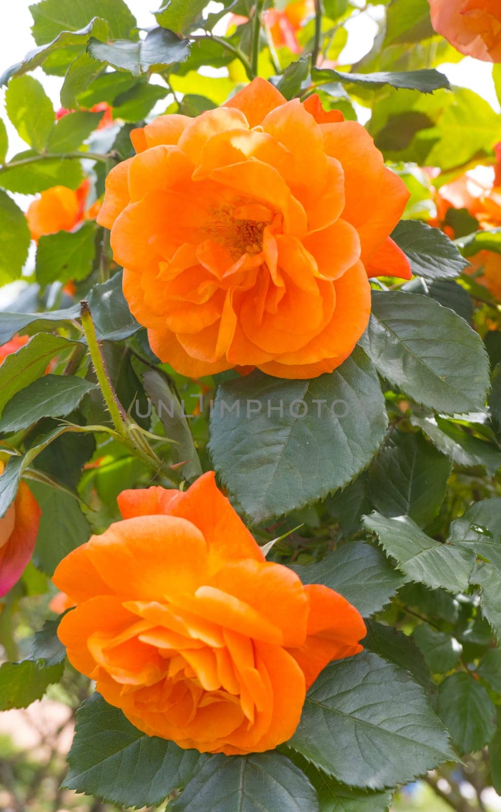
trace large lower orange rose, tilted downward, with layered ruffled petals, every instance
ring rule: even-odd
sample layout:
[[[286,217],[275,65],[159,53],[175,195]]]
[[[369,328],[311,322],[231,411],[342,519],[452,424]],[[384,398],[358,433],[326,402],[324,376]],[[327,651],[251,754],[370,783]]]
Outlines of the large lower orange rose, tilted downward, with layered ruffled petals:
[[[358,654],[358,611],[264,559],[214,473],[185,493],[118,497],[123,521],[71,552],[54,583],[77,604],[70,662],[148,736],[242,754],[293,735],[306,689]]]

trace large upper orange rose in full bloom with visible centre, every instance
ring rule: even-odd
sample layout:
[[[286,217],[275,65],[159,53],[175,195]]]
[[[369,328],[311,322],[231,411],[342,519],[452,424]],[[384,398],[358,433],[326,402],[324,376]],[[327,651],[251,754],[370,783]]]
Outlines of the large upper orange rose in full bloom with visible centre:
[[[153,352],[191,378],[332,372],[370,315],[368,275],[409,279],[388,238],[409,192],[362,125],[255,79],[225,106],[132,133],[97,221]]]

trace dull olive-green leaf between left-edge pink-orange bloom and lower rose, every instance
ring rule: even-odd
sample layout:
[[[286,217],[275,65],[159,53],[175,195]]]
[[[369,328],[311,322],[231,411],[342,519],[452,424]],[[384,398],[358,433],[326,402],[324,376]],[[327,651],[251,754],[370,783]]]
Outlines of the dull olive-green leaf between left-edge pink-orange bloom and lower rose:
[[[74,496],[41,482],[30,482],[30,488],[41,508],[33,559],[52,577],[65,555],[88,542],[91,531]]]

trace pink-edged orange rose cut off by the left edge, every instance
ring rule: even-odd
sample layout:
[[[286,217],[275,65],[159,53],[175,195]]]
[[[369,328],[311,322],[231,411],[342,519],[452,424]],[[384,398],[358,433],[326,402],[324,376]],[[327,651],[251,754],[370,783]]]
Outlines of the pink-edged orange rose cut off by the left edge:
[[[0,462],[0,475],[3,469]],[[35,497],[21,482],[14,502],[0,519],[0,597],[19,581],[32,557],[40,516]]]

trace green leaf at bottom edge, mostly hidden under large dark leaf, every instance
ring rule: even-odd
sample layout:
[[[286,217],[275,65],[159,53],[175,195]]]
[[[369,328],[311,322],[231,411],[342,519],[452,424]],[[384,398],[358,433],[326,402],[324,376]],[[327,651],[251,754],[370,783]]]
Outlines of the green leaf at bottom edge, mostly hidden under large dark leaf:
[[[390,808],[392,793],[368,793],[348,787],[308,762],[303,771],[316,789],[319,812],[388,812]]]

